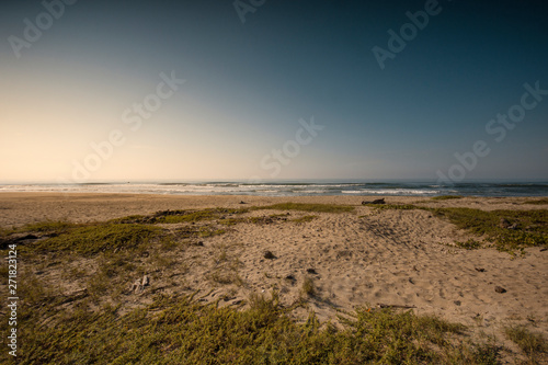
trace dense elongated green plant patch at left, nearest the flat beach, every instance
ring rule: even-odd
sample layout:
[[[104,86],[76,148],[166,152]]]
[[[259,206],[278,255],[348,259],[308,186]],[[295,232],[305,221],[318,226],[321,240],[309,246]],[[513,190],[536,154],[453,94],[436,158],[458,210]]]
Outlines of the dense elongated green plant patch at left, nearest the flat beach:
[[[93,255],[114,250],[132,250],[157,238],[161,228],[136,224],[103,224],[79,227],[57,237],[24,247],[25,251],[67,251],[81,255]]]

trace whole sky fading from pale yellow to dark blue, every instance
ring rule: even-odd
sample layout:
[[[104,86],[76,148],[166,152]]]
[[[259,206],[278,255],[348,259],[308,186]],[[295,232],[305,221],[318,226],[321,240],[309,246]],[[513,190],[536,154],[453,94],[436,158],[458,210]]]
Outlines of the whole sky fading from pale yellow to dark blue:
[[[2,1],[0,183],[548,180],[545,1]]]

